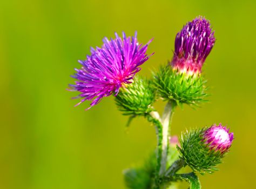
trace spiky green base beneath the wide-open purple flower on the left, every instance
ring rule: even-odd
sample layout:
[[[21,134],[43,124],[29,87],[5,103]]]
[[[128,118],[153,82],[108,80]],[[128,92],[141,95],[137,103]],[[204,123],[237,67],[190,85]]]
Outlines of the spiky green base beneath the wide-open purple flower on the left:
[[[124,115],[145,116],[153,111],[155,91],[149,80],[135,77],[131,84],[119,90],[116,104]]]

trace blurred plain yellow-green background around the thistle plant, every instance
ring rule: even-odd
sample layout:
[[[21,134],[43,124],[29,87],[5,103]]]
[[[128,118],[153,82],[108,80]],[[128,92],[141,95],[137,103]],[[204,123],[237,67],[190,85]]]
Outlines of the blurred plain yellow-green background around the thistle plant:
[[[0,2],[0,188],[124,188],[122,171],[156,146],[154,127],[133,121],[105,98],[73,107],[66,91],[90,46],[114,31],[139,42],[154,37],[140,75],[172,58],[176,33],[198,15],[211,20],[217,42],[206,60],[210,103],[178,109],[173,134],[223,123],[235,140],[220,171],[203,188],[255,188],[255,1]],[[157,108],[163,109],[158,103]],[[185,187],[184,187],[185,188]]]

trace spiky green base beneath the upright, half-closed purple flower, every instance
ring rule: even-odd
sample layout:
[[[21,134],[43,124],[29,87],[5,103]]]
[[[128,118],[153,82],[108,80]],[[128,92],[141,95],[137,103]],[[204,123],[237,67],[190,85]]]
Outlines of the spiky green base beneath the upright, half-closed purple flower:
[[[173,70],[170,65],[161,66],[154,73],[154,86],[164,100],[174,100],[179,104],[198,106],[206,101],[206,80],[201,75],[187,75]]]

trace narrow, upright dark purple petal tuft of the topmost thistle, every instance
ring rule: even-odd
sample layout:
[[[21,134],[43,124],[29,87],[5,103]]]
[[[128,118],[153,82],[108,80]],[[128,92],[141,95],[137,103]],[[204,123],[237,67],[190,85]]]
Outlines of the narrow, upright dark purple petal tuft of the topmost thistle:
[[[188,75],[198,74],[215,43],[210,22],[199,16],[177,33],[172,67]]]

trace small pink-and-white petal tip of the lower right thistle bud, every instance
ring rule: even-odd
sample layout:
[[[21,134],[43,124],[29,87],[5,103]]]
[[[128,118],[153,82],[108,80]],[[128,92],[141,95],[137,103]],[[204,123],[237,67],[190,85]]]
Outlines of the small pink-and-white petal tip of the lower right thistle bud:
[[[233,133],[228,133],[227,127],[219,124],[212,125],[203,133],[203,141],[211,150],[220,151],[221,153],[227,152],[234,139]]]

